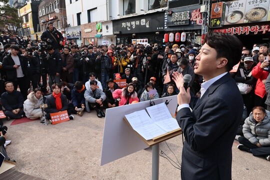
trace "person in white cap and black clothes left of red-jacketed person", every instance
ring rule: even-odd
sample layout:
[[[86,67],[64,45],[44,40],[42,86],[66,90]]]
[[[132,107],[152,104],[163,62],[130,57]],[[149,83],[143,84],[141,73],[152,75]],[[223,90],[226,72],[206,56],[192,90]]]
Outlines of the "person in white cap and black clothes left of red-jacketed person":
[[[252,85],[252,89],[247,94],[242,94],[244,105],[246,106],[247,114],[249,114],[252,111],[253,103],[254,103],[254,88],[257,79],[252,76],[251,70],[256,65],[254,63],[252,57],[245,57],[243,60],[243,67],[238,68],[236,74],[235,74],[235,81],[236,82],[242,82],[245,84]],[[241,71],[243,72],[241,74]]]

